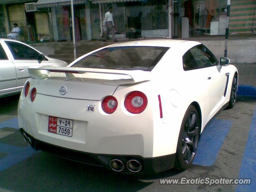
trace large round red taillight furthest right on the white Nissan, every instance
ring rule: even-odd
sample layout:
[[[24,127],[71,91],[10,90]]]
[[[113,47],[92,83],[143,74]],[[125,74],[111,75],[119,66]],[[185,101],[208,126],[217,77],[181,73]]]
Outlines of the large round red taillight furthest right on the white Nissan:
[[[132,91],[130,92],[125,100],[124,106],[126,110],[133,114],[138,114],[143,112],[148,105],[147,96],[140,91]]]

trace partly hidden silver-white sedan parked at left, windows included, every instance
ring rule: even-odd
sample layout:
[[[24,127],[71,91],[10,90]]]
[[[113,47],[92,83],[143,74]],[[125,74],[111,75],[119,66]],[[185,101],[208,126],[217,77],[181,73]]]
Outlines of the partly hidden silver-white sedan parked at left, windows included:
[[[49,58],[23,42],[0,38],[0,97],[21,92],[30,78],[29,66],[67,66],[67,63]]]

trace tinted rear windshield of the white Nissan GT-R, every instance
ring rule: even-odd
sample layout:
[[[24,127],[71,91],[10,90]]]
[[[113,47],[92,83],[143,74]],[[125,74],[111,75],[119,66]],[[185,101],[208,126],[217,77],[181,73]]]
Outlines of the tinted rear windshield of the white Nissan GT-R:
[[[151,71],[168,49],[152,46],[105,48],[86,56],[71,67]]]

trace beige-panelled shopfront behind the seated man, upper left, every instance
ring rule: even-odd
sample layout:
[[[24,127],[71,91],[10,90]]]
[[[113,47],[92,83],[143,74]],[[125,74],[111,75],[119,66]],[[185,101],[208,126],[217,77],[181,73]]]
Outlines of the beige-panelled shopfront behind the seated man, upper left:
[[[35,42],[41,36],[49,36],[48,10],[26,9],[26,4],[33,7],[34,3],[31,0],[0,0],[0,37],[7,38],[14,23],[20,28],[17,40]]]

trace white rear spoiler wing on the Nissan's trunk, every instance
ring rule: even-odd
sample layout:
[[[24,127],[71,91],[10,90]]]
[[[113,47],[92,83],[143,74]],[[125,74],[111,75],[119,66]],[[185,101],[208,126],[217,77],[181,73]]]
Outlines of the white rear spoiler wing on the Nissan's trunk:
[[[66,74],[66,81],[76,78],[73,74],[100,73],[100,74],[116,74],[130,76],[129,79],[107,80],[103,84],[108,85],[124,85],[133,84],[143,81],[150,81],[150,72],[143,70],[113,70],[113,69],[95,69],[80,67],[29,67],[28,72],[36,79],[44,79],[50,77],[50,72],[58,72]]]

